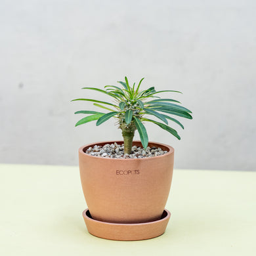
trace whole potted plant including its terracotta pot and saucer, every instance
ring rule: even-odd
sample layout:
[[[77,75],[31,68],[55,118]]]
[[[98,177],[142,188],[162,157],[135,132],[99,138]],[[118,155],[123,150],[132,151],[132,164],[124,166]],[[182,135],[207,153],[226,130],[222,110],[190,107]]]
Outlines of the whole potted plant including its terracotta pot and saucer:
[[[89,232],[102,238],[152,238],[164,232],[166,220],[169,220],[165,204],[173,175],[174,149],[165,144],[148,142],[144,123],[154,123],[180,140],[181,137],[169,127],[168,121],[184,129],[173,116],[192,119],[192,112],[177,100],[158,96],[159,93],[179,91],[156,91],[154,87],[141,90],[143,79],[137,86],[135,83],[129,85],[125,77],[125,81],[118,82],[121,87],[83,88],[104,93],[112,98],[112,102],[75,99],[93,102],[95,106],[107,110],[77,111],[75,114],[89,116],[77,121],[75,126],[90,121],[96,121],[98,126],[114,117],[123,136],[121,141],[97,142],[79,148],[81,184],[88,206],[83,217]],[[140,141],[133,141],[136,131]]]

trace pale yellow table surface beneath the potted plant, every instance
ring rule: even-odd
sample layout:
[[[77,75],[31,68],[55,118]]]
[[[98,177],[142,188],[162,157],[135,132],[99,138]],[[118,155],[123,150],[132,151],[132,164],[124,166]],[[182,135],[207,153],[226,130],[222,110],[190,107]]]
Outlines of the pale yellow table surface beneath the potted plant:
[[[0,165],[0,255],[256,255],[256,172],[175,169],[158,238],[91,236],[78,167]]]

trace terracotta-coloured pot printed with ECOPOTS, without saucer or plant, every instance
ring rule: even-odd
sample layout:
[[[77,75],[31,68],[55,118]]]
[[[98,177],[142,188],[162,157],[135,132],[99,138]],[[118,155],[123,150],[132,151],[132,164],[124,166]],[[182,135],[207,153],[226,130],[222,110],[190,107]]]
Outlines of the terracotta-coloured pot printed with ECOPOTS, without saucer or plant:
[[[116,141],[122,144],[123,141]],[[118,159],[90,156],[90,146],[79,148],[79,169],[83,194],[91,217],[109,223],[146,223],[161,219],[173,177],[174,149],[149,142],[148,146],[167,150],[152,158]],[[133,145],[141,146],[135,141]]]

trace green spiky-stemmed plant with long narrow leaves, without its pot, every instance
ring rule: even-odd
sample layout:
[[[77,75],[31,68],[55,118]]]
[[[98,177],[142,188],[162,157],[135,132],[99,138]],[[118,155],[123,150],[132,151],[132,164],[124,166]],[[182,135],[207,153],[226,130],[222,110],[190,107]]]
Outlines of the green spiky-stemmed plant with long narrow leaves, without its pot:
[[[181,102],[173,100],[171,98],[160,98],[155,96],[158,93],[173,92],[181,93],[179,91],[156,91],[154,87],[150,87],[146,90],[140,90],[140,84],[144,78],[139,82],[139,85],[135,87],[135,83],[131,87],[129,85],[127,77],[125,77],[125,82],[118,81],[121,84],[121,88],[114,85],[106,85],[104,90],[95,87],[84,87],[82,89],[89,89],[104,93],[111,96],[114,99],[113,103],[105,102],[101,100],[94,100],[91,98],[77,98],[75,100],[86,100],[90,102],[95,102],[94,105],[104,110],[108,110],[108,113],[95,112],[90,110],[81,110],[75,112],[75,114],[91,114],[79,120],[75,126],[81,125],[83,123],[88,123],[89,121],[96,121],[96,125],[101,125],[111,117],[115,117],[118,120],[119,128],[122,131],[123,143],[124,143],[124,153],[131,154],[131,147],[133,146],[133,137],[135,131],[138,130],[140,135],[140,140],[142,146],[146,148],[148,146],[148,134],[146,128],[142,122],[152,122],[168,131],[174,135],[177,139],[181,139],[175,129],[168,126],[168,119],[174,121],[179,126],[184,129],[183,125],[175,118],[169,116],[180,116],[187,119],[192,119],[190,115],[192,112],[183,106]],[[74,100],[72,100],[74,101]],[[172,103],[175,102],[175,103]],[[178,103],[178,104],[177,104]],[[103,105],[102,105],[103,104]],[[110,106],[110,107],[106,107]],[[165,114],[161,114],[161,113]],[[169,114],[168,116],[166,114]],[[154,116],[160,119],[163,123],[149,119],[146,116]]]

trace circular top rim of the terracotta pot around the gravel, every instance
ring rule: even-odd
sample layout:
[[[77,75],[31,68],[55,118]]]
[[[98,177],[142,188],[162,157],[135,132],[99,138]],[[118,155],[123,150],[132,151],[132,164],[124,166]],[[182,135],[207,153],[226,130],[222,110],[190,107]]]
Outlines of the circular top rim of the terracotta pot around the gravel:
[[[161,142],[153,142],[153,141],[149,141],[148,144],[158,144],[160,146],[165,146],[166,148],[169,149],[169,151],[161,156],[152,156],[152,158],[100,158],[98,156],[91,156],[89,154],[86,154],[83,149],[86,148],[86,147],[90,147],[90,146],[95,146],[95,145],[98,145],[98,144],[112,144],[116,142],[117,144],[118,143],[123,143],[123,140],[106,140],[106,141],[100,141],[100,142],[93,142],[93,143],[89,143],[89,144],[86,144],[84,146],[81,146],[79,148],[79,154],[82,154],[83,156],[86,156],[86,157],[89,157],[89,158],[97,158],[98,160],[107,160],[107,161],[146,161],[146,160],[149,160],[149,159],[154,159],[154,158],[164,158],[164,157],[167,157],[171,154],[174,153],[174,148],[172,146],[169,146],[167,144],[163,144]],[[140,140],[133,140],[133,142],[140,142]]]

